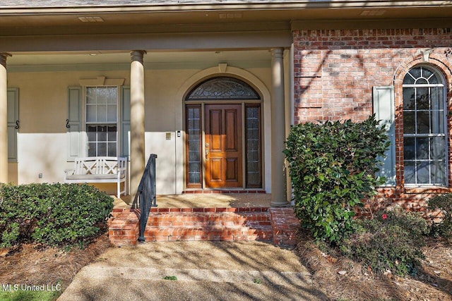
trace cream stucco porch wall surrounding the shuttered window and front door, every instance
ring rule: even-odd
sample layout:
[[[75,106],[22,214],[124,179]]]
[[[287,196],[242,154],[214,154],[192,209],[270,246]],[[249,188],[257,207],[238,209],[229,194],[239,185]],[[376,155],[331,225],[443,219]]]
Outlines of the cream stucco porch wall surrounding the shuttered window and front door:
[[[183,188],[183,103],[177,95],[187,78],[200,69],[145,69],[145,155],[157,154],[157,193],[174,194]],[[253,73],[270,86],[267,66]],[[19,89],[18,164],[11,167],[10,180],[23,183],[54,183],[64,180],[64,170],[73,163],[66,159],[67,97],[69,86],[80,79],[124,78],[130,85],[129,70],[61,72],[11,72],[8,87]],[[171,139],[166,140],[166,133]],[[17,166],[17,167],[16,167]],[[42,178],[39,174],[42,173]],[[17,176],[16,176],[17,175]],[[114,193],[114,185],[108,192]]]

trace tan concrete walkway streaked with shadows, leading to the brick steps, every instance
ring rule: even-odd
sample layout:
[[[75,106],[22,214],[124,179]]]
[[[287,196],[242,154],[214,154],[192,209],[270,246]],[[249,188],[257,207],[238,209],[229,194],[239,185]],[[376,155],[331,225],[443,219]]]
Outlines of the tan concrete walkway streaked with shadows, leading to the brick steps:
[[[292,250],[264,242],[147,242],[108,250],[58,300],[326,299]]]

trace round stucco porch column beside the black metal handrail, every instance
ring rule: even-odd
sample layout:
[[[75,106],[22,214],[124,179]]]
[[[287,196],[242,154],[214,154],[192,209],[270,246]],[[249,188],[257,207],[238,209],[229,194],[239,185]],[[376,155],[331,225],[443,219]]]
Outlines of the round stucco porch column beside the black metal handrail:
[[[131,51],[130,66],[130,195],[135,197],[145,168],[143,50]]]

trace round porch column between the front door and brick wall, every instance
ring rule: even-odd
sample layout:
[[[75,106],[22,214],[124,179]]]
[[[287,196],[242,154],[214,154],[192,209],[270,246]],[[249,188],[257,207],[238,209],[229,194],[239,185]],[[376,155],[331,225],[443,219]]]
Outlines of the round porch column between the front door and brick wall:
[[[284,49],[271,50],[271,202],[272,207],[288,206],[285,193],[285,111]]]

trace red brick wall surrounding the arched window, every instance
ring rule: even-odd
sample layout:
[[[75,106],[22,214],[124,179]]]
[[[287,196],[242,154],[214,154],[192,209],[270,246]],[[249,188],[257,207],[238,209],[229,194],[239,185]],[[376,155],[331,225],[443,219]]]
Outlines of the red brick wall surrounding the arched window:
[[[372,113],[372,87],[394,85],[396,106],[396,187],[380,190],[381,204],[420,209],[444,188],[403,184],[402,80],[410,68],[427,63],[446,78],[452,111],[452,29],[296,30],[295,123],[363,121]],[[423,61],[422,51],[429,51]],[[450,133],[452,117],[448,115]],[[449,188],[452,188],[452,140],[449,135]]]

